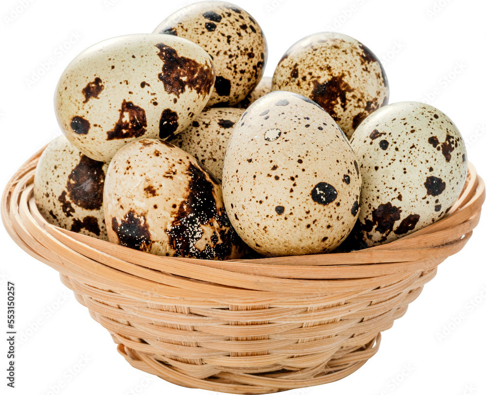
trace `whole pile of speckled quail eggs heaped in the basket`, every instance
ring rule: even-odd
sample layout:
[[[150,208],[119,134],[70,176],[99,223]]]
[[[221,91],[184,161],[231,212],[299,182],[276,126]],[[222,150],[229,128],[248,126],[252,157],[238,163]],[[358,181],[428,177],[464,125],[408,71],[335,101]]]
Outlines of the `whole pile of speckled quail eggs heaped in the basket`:
[[[317,33],[272,79],[266,61],[260,25],[224,1],[81,52],[55,92],[63,136],[35,173],[41,214],[140,251],[224,260],[357,250],[448,213],[464,140],[430,105],[388,104],[364,44]]]

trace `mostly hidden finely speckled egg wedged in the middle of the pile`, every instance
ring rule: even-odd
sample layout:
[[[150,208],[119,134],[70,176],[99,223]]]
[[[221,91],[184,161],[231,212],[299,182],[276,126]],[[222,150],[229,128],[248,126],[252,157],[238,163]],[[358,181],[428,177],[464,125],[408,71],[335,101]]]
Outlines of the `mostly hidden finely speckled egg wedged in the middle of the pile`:
[[[194,156],[221,180],[226,146],[243,111],[240,108],[206,108],[191,126],[169,142]]]

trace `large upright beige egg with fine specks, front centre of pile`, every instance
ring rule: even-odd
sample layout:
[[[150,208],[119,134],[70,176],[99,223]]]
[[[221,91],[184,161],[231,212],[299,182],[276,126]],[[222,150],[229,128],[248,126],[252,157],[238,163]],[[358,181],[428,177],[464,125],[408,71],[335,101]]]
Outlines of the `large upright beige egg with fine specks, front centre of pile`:
[[[228,217],[260,254],[318,254],[349,234],[361,192],[346,136],[312,100],[271,92],[243,114],[223,167]]]

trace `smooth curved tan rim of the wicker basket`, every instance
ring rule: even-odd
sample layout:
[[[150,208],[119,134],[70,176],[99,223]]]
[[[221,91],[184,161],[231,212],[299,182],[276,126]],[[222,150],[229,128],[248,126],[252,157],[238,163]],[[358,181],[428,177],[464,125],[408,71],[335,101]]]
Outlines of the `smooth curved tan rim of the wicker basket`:
[[[49,240],[59,251],[73,252],[71,257],[75,260],[79,255],[90,259],[90,254],[94,254],[104,260],[123,261],[125,265],[128,262],[132,269],[136,266],[137,270],[132,272],[125,270],[134,278],[143,278],[140,271],[144,269],[160,271],[171,276],[171,281],[183,283],[179,277],[191,273],[191,281],[199,281],[202,288],[209,279],[219,284],[220,290],[221,285],[248,289],[249,281],[249,289],[255,291],[298,294],[307,290],[309,296],[322,295],[323,290],[344,292],[346,287],[353,288],[359,283],[365,283],[368,289],[376,288],[404,275],[432,270],[460,251],[479,222],[486,195],[484,181],[469,163],[461,195],[443,219],[387,244],[346,253],[226,261],[161,257],[61,229],[44,220],[35,206],[32,190],[35,166],[44,149],[29,158],[7,184],[1,200],[2,220],[9,235],[30,255],[61,273],[81,277],[86,272],[74,270],[73,264],[59,265],[46,257],[46,246],[42,243],[49,244],[46,242]],[[39,248],[43,253],[35,250]],[[119,266],[116,270],[123,269]],[[167,278],[160,279],[160,284],[164,282],[169,287]],[[206,287],[203,293],[214,291]]]

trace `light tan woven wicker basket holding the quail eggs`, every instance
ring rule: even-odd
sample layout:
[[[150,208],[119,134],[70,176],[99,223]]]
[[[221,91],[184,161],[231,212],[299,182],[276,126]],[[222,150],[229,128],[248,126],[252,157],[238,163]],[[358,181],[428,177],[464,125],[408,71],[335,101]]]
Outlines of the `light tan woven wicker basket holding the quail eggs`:
[[[52,226],[33,179],[42,150],[7,185],[10,236],[62,282],[135,368],[186,387],[265,394],[360,368],[437,265],[466,244],[485,200],[469,164],[447,217],[359,252],[256,260],[165,258]]]

